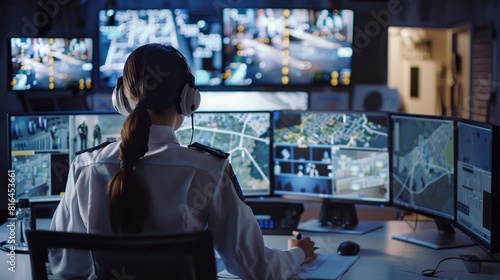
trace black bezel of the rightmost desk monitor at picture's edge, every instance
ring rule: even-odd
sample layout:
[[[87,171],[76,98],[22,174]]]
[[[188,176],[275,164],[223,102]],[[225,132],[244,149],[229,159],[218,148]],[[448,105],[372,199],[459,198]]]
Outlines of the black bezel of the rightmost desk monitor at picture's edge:
[[[463,123],[465,125],[474,126],[477,128],[488,129],[491,130],[492,133],[492,145],[491,145],[491,235],[490,240],[486,241],[483,238],[480,238],[476,233],[474,233],[469,227],[464,226],[463,224],[458,222],[458,176],[455,174],[455,226],[460,229],[463,233],[469,236],[474,242],[476,242],[479,247],[483,248],[490,254],[495,254],[500,252],[500,217],[495,217],[495,213],[500,212],[500,162],[498,162],[498,156],[500,155],[500,147],[498,144],[500,143],[500,128],[497,125],[491,123],[485,123],[480,121],[475,121],[471,119],[457,119],[456,120],[456,159],[455,159],[455,173],[458,170],[458,143],[459,143],[459,124]]]

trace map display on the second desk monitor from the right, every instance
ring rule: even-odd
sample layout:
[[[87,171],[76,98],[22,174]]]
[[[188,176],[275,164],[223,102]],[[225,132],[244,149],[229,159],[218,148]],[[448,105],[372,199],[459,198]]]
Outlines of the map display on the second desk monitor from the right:
[[[454,217],[453,120],[391,115],[393,203]]]

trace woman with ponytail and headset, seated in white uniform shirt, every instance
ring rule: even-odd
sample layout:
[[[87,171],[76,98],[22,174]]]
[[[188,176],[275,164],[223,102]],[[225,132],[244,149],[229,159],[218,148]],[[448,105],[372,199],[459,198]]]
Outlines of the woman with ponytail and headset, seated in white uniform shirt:
[[[286,251],[265,247],[228,159],[179,145],[175,130],[199,106],[186,60],[148,44],[128,57],[115,107],[129,114],[121,141],[77,156],[51,229],[87,233],[210,230],[227,270],[243,279],[286,279],[314,258],[309,238]],[[82,261],[84,258],[86,261]],[[53,253],[52,272],[92,270],[88,256]]]

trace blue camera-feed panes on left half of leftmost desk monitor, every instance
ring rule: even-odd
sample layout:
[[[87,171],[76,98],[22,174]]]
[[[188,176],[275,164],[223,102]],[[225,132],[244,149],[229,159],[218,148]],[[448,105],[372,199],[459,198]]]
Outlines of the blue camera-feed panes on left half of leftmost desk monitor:
[[[59,187],[66,183],[69,117],[11,116],[10,122],[16,198],[51,195],[53,183]]]

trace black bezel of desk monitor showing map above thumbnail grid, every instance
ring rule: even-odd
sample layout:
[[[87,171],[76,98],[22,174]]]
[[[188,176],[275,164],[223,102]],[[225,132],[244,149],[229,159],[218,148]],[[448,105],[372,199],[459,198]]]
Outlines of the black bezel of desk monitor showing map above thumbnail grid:
[[[319,201],[319,202],[330,202],[330,203],[341,203],[341,204],[354,204],[354,205],[373,205],[373,206],[381,206],[381,207],[386,207],[386,206],[391,206],[392,205],[392,191],[391,191],[391,180],[390,180],[390,166],[391,166],[391,154],[390,154],[390,127],[389,127],[389,113],[385,111],[354,111],[354,110],[338,110],[338,111],[327,111],[327,110],[276,110],[273,111],[273,114],[275,113],[320,113],[320,114],[366,114],[366,115],[376,115],[378,117],[384,118],[386,121],[387,125],[387,156],[388,156],[388,198],[386,200],[363,200],[363,199],[350,199],[350,198],[339,198],[338,196],[335,195],[328,195],[328,196],[321,196],[321,195],[301,195],[298,192],[290,192],[290,193],[285,193],[285,192],[280,192],[276,193],[275,190],[275,174],[274,174],[274,169],[272,168],[273,172],[273,181],[272,181],[272,189],[274,191],[274,196],[275,197],[293,197],[294,199],[305,199],[305,200],[313,200],[313,201]],[[274,119],[274,116],[273,116]],[[272,119],[272,120],[273,120]],[[272,129],[273,129],[273,147],[274,149],[275,142],[274,142],[274,122],[272,121],[271,123]],[[273,151],[271,151],[271,164],[274,162],[274,154]],[[333,183],[332,183],[333,184]]]

